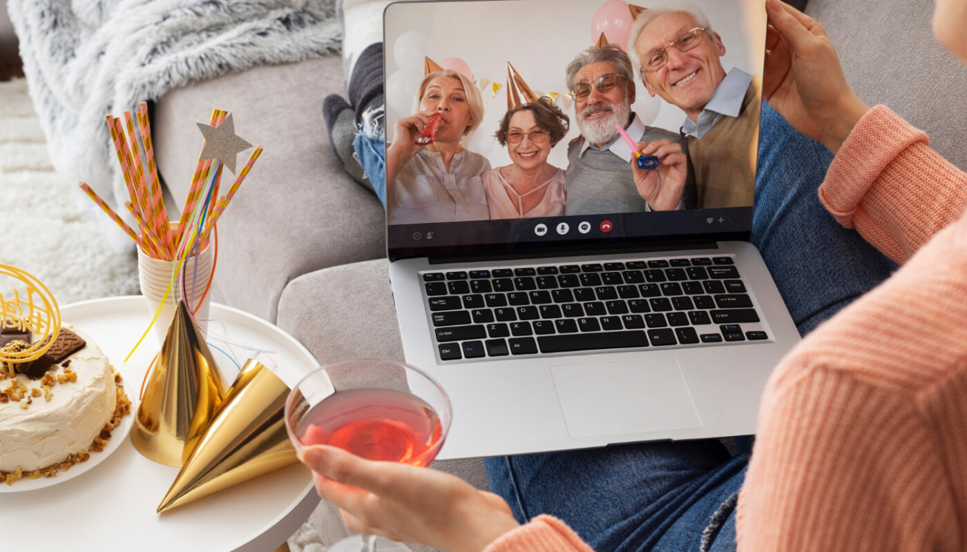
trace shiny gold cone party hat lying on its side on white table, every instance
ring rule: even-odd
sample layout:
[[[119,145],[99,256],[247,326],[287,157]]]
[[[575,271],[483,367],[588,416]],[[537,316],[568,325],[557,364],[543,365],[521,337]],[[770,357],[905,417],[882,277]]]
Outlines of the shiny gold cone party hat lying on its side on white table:
[[[272,370],[249,359],[158,513],[298,462],[282,416],[288,394]]]

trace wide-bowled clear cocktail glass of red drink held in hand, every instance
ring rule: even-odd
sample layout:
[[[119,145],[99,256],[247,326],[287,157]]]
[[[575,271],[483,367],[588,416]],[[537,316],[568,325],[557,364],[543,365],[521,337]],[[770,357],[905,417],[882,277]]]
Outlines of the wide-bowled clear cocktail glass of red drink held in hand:
[[[318,368],[289,392],[285,428],[296,451],[329,445],[367,460],[427,466],[450,429],[450,397],[423,370],[387,359]],[[339,540],[330,552],[408,552],[383,537]]]

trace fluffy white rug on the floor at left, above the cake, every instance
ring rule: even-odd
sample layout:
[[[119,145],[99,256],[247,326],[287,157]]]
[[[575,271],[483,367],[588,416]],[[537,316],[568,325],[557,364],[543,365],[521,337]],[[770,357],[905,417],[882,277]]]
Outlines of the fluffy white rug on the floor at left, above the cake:
[[[92,205],[54,173],[26,81],[0,82],[0,264],[39,278],[59,305],[139,294],[136,254],[109,245],[103,232],[121,229]],[[292,552],[324,550],[308,523],[288,543]]]

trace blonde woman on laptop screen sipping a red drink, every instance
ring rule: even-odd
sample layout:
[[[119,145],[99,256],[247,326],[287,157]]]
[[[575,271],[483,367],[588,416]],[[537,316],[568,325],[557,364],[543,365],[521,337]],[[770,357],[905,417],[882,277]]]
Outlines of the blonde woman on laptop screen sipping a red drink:
[[[484,119],[480,91],[462,73],[437,71],[425,75],[417,97],[420,111],[396,121],[386,149],[390,223],[489,218],[481,175],[490,162],[462,145]],[[442,119],[432,142],[417,144],[435,113]]]

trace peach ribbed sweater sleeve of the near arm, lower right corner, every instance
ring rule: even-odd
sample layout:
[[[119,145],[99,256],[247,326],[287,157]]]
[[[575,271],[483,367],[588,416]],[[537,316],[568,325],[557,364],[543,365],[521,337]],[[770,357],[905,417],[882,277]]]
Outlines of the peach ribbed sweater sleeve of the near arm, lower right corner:
[[[967,216],[780,363],[739,550],[963,550]]]

